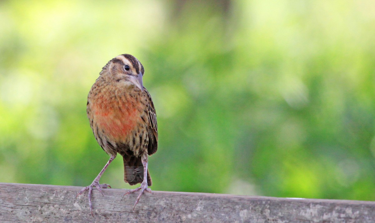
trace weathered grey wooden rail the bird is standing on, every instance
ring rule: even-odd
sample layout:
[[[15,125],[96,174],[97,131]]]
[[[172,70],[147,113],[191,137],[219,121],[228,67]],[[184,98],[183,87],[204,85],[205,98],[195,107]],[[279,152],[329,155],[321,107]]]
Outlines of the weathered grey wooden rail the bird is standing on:
[[[81,187],[0,183],[0,222],[375,222],[375,202],[154,191],[94,190],[91,216]]]

